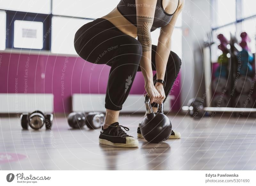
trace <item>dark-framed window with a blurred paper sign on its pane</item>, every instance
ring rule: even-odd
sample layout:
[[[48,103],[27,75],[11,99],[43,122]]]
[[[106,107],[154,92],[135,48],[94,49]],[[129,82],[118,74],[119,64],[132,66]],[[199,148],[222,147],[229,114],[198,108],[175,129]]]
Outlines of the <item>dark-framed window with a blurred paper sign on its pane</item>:
[[[50,49],[51,20],[47,14],[6,11],[6,48]]]

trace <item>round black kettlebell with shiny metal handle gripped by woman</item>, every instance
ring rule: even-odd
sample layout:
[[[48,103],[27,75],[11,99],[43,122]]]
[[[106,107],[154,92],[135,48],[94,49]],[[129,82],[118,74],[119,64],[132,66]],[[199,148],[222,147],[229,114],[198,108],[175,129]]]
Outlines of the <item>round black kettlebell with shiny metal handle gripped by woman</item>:
[[[159,143],[169,138],[172,132],[172,123],[164,115],[164,104],[158,104],[157,112],[154,113],[148,94],[145,95],[146,117],[140,125],[142,136],[150,143]]]

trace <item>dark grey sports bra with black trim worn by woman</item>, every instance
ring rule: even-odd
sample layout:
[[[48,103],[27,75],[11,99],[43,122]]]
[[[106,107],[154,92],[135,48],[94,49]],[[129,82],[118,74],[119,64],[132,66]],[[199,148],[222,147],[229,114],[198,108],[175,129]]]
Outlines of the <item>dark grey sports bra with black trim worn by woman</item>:
[[[179,0],[178,0],[178,5],[179,5]],[[117,5],[117,10],[134,26],[137,26],[135,0],[121,0]],[[154,22],[150,31],[152,32],[156,30],[156,28],[166,26],[171,21],[173,14],[168,14],[167,12],[164,11],[163,0],[157,0]]]

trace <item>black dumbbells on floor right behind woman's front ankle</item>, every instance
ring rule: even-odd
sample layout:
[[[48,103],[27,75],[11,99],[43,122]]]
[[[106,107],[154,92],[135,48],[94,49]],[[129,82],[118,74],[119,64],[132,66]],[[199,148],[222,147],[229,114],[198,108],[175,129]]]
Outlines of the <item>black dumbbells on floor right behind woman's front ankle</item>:
[[[70,127],[79,129],[87,125],[90,129],[100,128],[105,121],[105,115],[102,112],[73,112],[68,115],[68,124]]]

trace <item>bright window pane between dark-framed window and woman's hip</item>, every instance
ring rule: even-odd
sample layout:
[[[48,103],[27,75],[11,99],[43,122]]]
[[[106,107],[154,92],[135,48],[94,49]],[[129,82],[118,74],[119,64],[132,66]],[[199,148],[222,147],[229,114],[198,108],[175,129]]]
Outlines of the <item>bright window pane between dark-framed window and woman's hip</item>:
[[[52,18],[52,53],[76,54],[74,48],[75,33],[81,26],[91,21],[54,16]]]

